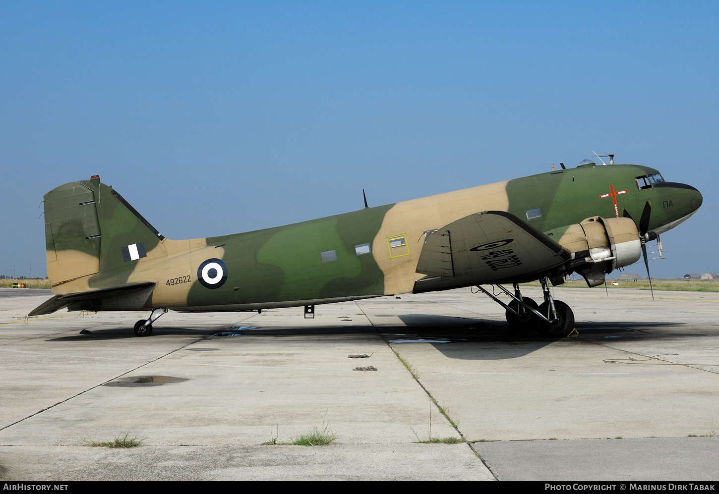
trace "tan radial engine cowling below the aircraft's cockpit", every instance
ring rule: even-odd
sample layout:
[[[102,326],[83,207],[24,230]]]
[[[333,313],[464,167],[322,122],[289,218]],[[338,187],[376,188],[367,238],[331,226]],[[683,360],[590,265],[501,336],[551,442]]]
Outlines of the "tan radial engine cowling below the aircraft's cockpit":
[[[572,271],[584,276],[589,286],[603,284],[605,274],[641,256],[639,230],[631,218],[592,216],[570,225],[559,243],[572,253]]]

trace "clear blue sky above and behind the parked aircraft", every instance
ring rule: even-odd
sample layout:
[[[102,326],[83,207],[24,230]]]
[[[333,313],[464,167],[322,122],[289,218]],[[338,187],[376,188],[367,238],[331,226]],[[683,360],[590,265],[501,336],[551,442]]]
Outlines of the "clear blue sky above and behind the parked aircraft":
[[[719,2],[0,4],[0,274],[100,174],[169,238],[574,166],[699,188],[654,276],[719,272]],[[629,271],[643,272],[643,266]]]

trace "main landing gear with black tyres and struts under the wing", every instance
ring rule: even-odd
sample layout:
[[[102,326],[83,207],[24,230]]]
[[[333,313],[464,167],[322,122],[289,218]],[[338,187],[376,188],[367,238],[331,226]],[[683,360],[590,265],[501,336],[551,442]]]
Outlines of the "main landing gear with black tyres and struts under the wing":
[[[539,281],[544,293],[544,303],[539,306],[533,299],[522,297],[519,285],[516,283],[513,284],[514,293],[500,284],[496,285],[512,299],[509,304],[505,304],[483,289],[482,286],[477,286],[477,288],[505,308],[505,317],[511,327],[518,330],[536,330],[539,335],[544,337],[561,338],[569,336],[569,333],[574,330],[574,312],[569,308],[569,305],[559,300],[554,300],[549,290],[549,279],[546,276]]]

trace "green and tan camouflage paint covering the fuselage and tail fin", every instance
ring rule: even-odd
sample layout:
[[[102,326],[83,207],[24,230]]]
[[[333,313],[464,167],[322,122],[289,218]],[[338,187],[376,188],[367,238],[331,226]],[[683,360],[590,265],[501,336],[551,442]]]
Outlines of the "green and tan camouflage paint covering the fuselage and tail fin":
[[[143,222],[99,179],[70,182],[45,195],[47,272],[55,294],[79,294],[127,284],[155,284],[142,307],[239,310],[359,299],[411,292],[426,232],[485,210],[503,210],[560,244],[567,228],[585,218],[615,216],[626,208],[638,221],[651,202],[650,230],[693,213],[701,195],[671,183],[638,190],[635,177],[658,173],[636,165],[579,167],[537,174],[377,208],[228,236],[173,241]],[[130,207],[131,208],[131,207]],[[528,220],[528,210],[541,218]],[[88,238],[90,237],[90,238]],[[390,240],[403,238],[398,248]],[[125,262],[121,249],[145,245],[146,257]],[[370,244],[357,255],[355,246]],[[334,250],[336,260],[322,262]],[[571,250],[571,249],[569,249]],[[211,258],[227,266],[225,283],[209,289],[197,280]],[[187,282],[168,284],[173,279]],[[116,307],[115,304],[114,307]],[[94,305],[96,309],[100,306]],[[100,307],[101,308],[101,307]]]

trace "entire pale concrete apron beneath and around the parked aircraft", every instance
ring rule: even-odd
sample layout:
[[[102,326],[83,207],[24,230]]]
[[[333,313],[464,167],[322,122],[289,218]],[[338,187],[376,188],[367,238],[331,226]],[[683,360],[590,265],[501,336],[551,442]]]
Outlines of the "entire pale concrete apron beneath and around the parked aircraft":
[[[536,289],[526,294],[541,300]],[[667,478],[714,478],[714,469],[682,467],[691,456],[682,451],[691,449],[685,441],[701,439],[703,458],[719,452],[714,437],[687,438],[719,429],[719,294],[656,295],[652,302],[649,292],[614,289],[607,299],[603,290],[558,287],[554,296],[574,309],[580,337],[556,341],[511,332],[503,310],[469,289],[322,306],[315,320],[301,309],[170,312],[147,338],[132,334],[144,312],[24,325],[17,321],[42,297],[0,296],[0,383],[8,390],[0,403],[0,475],[492,479],[474,448],[500,479],[628,472],[651,480],[656,469],[647,465],[656,458],[634,450],[634,470],[617,470],[609,457],[628,441],[605,438],[656,436],[677,446],[674,470],[662,470]],[[251,328],[211,336],[242,326]],[[79,335],[82,329],[92,334]],[[372,356],[347,358],[362,353]],[[368,365],[377,371],[352,370]],[[186,381],[103,385],[143,376]],[[472,448],[416,444],[429,437],[430,411],[432,437],[467,439]],[[336,442],[260,445],[290,442],[313,427],[328,427]],[[144,438],[142,447],[81,445],[126,433]],[[566,467],[568,451],[581,469]]]

